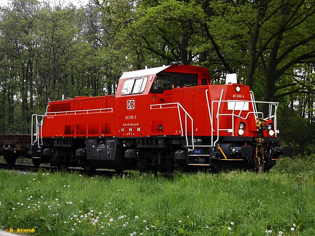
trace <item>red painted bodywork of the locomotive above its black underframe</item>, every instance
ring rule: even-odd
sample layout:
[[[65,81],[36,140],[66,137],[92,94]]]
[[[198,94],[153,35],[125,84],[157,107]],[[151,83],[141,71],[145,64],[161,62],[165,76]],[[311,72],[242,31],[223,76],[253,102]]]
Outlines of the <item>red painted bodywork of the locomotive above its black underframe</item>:
[[[244,105],[238,102],[235,105],[226,102],[252,101],[249,87],[240,84],[210,85],[208,70],[197,66],[171,65],[147,71],[147,74],[146,70],[124,74],[115,96],[76,97],[50,102],[42,137],[182,136],[186,132],[191,136],[192,129],[195,136],[217,136],[218,122],[220,136],[239,136],[238,127],[243,122],[245,129],[242,136],[257,137],[252,103]],[[169,85],[172,89],[154,93],[159,88],[152,91],[151,87],[160,72],[197,75],[198,81],[194,87],[176,87],[173,83]],[[122,95],[125,81],[139,77],[147,78],[143,92]],[[207,85],[202,85],[204,83]],[[239,92],[236,87],[240,87]],[[219,100],[220,103],[215,102]],[[234,105],[238,107],[235,115],[227,115],[233,112]],[[241,114],[240,110],[243,110]],[[193,128],[189,116],[193,120]],[[211,131],[212,127],[214,131]],[[267,137],[267,132],[264,135]]]

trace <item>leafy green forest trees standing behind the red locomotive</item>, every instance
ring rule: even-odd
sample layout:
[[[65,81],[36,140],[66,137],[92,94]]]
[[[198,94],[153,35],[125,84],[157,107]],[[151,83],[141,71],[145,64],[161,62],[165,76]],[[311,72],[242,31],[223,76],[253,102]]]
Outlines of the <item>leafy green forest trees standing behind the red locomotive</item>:
[[[124,71],[173,61],[280,102],[279,136],[315,154],[315,1],[13,0],[0,7],[0,133],[30,133],[62,95],[115,94]]]

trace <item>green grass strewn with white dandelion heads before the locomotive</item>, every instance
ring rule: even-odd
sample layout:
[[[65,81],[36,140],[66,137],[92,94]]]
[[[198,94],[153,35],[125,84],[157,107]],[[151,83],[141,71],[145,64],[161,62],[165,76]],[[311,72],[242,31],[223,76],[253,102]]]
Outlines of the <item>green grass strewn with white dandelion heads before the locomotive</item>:
[[[267,174],[174,177],[1,170],[0,225],[34,228],[47,236],[255,236],[267,235],[266,230],[272,230],[269,235],[315,235],[312,167],[310,160],[288,159]]]

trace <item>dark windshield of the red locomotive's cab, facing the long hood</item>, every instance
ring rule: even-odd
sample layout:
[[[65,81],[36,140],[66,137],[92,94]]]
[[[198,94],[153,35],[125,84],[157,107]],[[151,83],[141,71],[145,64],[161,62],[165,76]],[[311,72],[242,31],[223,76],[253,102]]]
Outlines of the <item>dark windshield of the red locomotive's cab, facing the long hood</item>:
[[[197,86],[197,74],[160,72],[152,84],[151,93],[163,93],[164,90]]]

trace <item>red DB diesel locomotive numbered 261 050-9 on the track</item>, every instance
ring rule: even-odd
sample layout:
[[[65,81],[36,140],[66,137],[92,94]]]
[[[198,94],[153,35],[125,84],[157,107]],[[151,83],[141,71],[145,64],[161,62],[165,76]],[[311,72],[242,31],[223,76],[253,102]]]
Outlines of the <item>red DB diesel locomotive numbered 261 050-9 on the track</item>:
[[[36,166],[267,171],[293,147],[280,147],[278,103],[266,103],[266,118],[259,103],[236,78],[211,85],[198,66],[125,72],[116,95],[49,102],[44,115],[33,115],[26,149]]]

